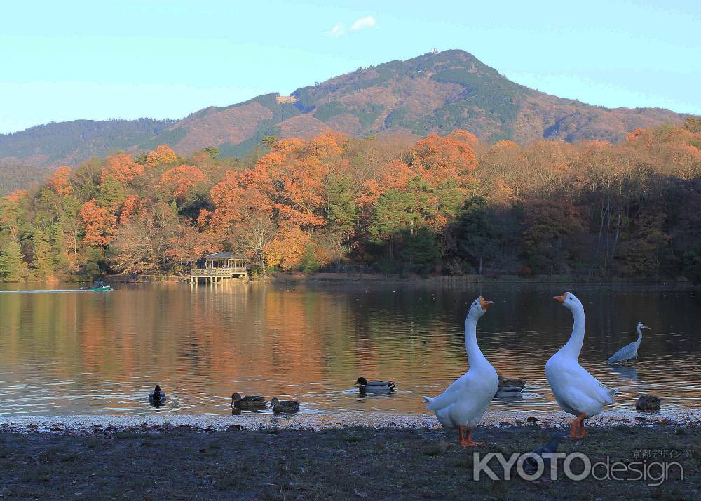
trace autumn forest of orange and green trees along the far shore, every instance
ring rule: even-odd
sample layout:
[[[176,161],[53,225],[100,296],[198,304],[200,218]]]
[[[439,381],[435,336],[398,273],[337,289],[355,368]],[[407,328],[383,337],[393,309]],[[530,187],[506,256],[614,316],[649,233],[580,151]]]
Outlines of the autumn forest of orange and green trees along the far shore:
[[[245,254],[253,279],[697,283],[701,119],[617,143],[327,131],[266,136],[243,159],[161,145],[59,167],[0,199],[0,281],[179,276],[219,250]]]

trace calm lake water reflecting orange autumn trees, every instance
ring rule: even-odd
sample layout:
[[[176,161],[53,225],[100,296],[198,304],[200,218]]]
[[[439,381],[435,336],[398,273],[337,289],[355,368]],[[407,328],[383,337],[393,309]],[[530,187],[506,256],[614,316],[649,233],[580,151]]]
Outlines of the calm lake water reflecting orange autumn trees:
[[[14,289],[13,289],[14,288]],[[77,288],[61,286],[62,289]],[[527,380],[524,400],[491,409],[558,409],[543,367],[571,333],[552,300],[585,305],[580,363],[615,387],[614,407],[641,392],[665,410],[701,405],[701,293],[682,288],[551,285],[224,284],[130,286],[111,293],[0,290],[0,414],[231,413],[233,392],[293,397],[303,412],[426,413],[421,396],[465,372],[463,324],[482,294],[496,304],[477,339],[498,373]],[[606,358],[635,340],[639,359]],[[397,383],[362,398],[359,375]],[[158,383],[169,399],[149,407]]]

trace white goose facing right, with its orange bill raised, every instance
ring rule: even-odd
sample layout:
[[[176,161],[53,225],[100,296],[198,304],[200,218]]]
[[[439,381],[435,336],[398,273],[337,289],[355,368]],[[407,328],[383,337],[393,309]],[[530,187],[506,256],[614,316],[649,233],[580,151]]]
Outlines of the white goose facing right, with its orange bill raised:
[[[457,428],[460,445],[478,446],[472,441],[472,429],[482,421],[489,402],[499,387],[496,370],[477,345],[477,321],[494,305],[479,296],[472,302],[465,318],[465,351],[470,367],[440,395],[424,396],[426,409],[433,410],[438,422],[447,428]]]

